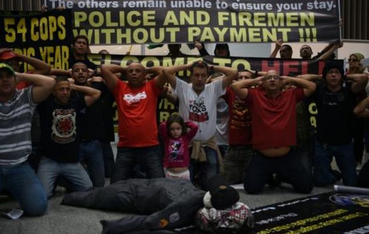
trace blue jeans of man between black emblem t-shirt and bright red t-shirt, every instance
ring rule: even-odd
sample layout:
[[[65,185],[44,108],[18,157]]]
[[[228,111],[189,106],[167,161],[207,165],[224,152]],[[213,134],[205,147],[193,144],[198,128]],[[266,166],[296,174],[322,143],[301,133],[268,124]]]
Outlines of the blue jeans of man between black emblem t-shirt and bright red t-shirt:
[[[87,172],[90,175],[94,187],[104,187],[104,156],[99,140],[79,143],[79,161],[87,164]]]

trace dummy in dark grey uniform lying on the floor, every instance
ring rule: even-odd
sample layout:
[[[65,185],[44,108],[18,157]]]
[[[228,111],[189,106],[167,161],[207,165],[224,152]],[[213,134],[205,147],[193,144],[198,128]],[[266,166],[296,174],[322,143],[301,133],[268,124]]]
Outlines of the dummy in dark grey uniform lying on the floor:
[[[218,177],[214,178],[213,181],[219,181]],[[137,231],[146,233],[155,230],[155,233],[160,230],[167,233],[165,230],[194,224],[195,217],[197,217],[197,221],[202,222],[201,219],[209,220],[224,216],[224,212],[223,214],[214,213],[215,209],[210,208],[210,206],[213,206],[211,202],[214,203],[217,210],[221,208],[226,213],[227,209],[230,211],[237,205],[238,212],[241,212],[241,216],[245,217],[243,220],[239,220],[239,218],[237,220],[237,225],[242,226],[240,230],[252,227],[251,212],[243,203],[237,202],[239,199],[237,191],[227,185],[217,186],[216,183],[213,183],[212,186],[214,192],[210,190],[211,188],[209,190],[210,193],[214,195],[216,193],[217,195],[209,198],[210,193],[208,193],[205,203],[209,208],[205,207],[203,209],[200,208],[204,207],[203,200],[206,192],[197,189],[187,180],[166,178],[129,179],[93,191],[73,192],[63,198],[62,205],[139,214],[130,215],[119,220],[100,221],[103,225],[103,233],[109,234]],[[224,199],[224,197],[229,199]],[[210,203],[209,199],[211,199]],[[225,207],[228,208],[225,209]],[[213,212],[209,212],[210,216],[208,216],[207,211],[210,210],[213,210]],[[208,225],[206,226],[209,228]],[[212,224],[211,228],[213,226],[216,227],[217,224]]]

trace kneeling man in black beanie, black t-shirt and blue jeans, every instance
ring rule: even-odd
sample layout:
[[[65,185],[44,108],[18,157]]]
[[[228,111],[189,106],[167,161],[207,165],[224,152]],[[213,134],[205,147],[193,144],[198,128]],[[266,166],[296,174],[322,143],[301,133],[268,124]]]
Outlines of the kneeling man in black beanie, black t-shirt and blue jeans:
[[[316,186],[332,184],[340,179],[340,175],[331,170],[333,156],[344,185],[356,186],[351,123],[355,94],[365,88],[367,81],[368,78],[362,74],[345,77],[343,68],[334,62],[327,63],[323,69],[323,83],[317,85],[312,95],[318,110],[313,170]]]

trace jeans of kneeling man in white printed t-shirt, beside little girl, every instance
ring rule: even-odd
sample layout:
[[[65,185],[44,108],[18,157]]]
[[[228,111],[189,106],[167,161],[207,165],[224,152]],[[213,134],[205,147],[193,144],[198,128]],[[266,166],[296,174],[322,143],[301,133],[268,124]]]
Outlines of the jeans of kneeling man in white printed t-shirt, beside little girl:
[[[203,146],[206,161],[198,162],[191,158],[190,161],[190,179],[195,182],[195,175],[199,175],[199,183],[203,188],[206,188],[206,182],[219,172],[218,168],[218,153],[213,148]],[[192,147],[189,149],[189,154],[192,154]]]

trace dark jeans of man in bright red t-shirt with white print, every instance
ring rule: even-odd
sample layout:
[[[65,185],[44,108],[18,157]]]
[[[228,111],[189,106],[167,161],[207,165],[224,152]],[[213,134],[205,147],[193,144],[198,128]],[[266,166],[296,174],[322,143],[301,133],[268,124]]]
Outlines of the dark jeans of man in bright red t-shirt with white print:
[[[134,168],[137,164],[144,169],[148,179],[165,177],[160,160],[159,146],[118,147],[110,184],[133,178]]]

